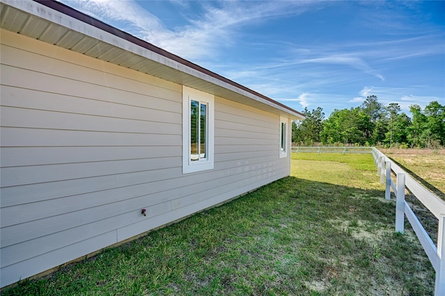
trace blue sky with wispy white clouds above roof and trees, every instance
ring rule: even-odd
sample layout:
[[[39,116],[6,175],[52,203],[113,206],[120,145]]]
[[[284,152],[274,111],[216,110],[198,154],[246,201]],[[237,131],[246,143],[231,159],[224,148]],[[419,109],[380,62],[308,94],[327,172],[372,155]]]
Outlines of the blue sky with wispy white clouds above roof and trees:
[[[445,104],[445,1],[62,2],[296,110]]]

